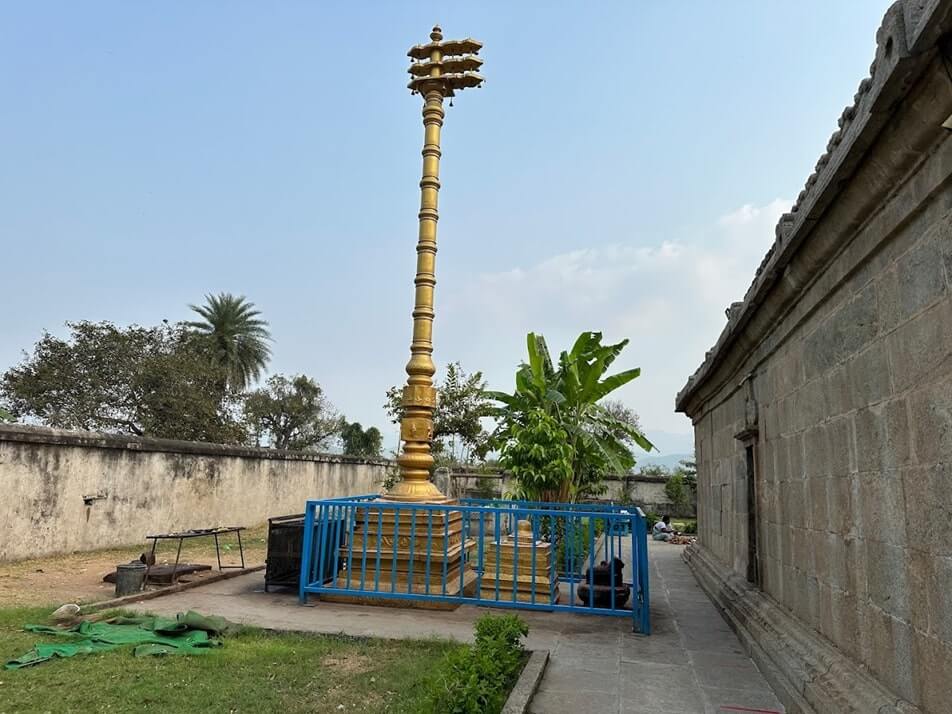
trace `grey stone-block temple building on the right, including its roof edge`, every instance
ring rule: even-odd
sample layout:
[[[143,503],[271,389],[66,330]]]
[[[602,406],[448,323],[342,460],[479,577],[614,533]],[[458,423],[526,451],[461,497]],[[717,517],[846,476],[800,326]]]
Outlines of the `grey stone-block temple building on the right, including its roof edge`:
[[[952,702],[950,33],[952,0],[887,12],[871,76],[677,399],[698,465],[688,560],[789,711]]]

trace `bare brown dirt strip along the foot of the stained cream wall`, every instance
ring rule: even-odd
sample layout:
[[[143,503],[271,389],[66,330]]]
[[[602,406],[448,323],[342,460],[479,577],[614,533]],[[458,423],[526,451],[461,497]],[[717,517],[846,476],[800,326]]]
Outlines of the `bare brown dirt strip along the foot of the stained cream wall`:
[[[240,565],[238,543],[234,536],[220,537],[219,540],[222,564]],[[242,532],[241,543],[244,546],[246,566],[264,563],[267,541],[267,524]],[[177,547],[177,541],[160,541],[156,549],[156,563],[175,562]],[[135,560],[147,549],[151,549],[151,542],[125,548],[0,563],[0,607],[59,606],[68,602],[82,605],[108,600],[115,594],[115,585],[104,583],[103,576],[115,570],[118,563]],[[185,541],[181,562],[204,563],[212,566],[212,573],[218,572],[214,539],[195,538]],[[180,582],[188,577],[198,576],[183,577]]]

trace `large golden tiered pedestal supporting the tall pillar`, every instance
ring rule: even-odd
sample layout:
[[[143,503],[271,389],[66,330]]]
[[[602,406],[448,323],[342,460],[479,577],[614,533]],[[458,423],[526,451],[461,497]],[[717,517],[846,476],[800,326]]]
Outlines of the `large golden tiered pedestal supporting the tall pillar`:
[[[475,541],[463,542],[462,528],[459,511],[407,510],[400,511],[398,517],[398,511],[385,505],[358,509],[353,532],[347,534],[339,550],[341,570],[334,584],[367,594],[322,593],[321,599],[455,610],[456,603],[386,598],[375,593],[474,595],[476,574],[466,566],[464,556]]]

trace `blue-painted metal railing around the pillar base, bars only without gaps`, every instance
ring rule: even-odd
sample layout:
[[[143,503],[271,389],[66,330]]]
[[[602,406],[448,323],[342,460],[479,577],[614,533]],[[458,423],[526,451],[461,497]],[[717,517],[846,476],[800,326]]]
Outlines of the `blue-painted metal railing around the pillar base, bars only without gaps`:
[[[648,553],[646,550],[646,541],[647,541],[647,523],[644,518],[644,514],[641,509],[632,507],[630,505],[626,506],[627,512],[621,513],[620,508],[610,507],[601,507],[596,508],[595,510],[589,510],[590,505],[586,504],[574,504],[571,507],[566,507],[566,504],[545,504],[545,507],[540,508],[531,508],[526,507],[528,504],[519,503],[519,502],[500,502],[492,501],[495,505],[492,507],[486,506],[458,506],[458,505],[443,505],[443,504],[402,504],[402,503],[386,503],[380,504],[376,510],[377,512],[377,549],[374,554],[374,573],[375,573],[375,583],[374,590],[368,591],[367,589],[367,557],[366,551],[369,546],[367,541],[369,540],[370,534],[370,518],[371,515],[371,505],[367,503],[370,500],[373,500],[375,496],[363,496],[363,497],[351,497],[349,499],[339,498],[339,499],[326,499],[326,500],[311,500],[308,501],[305,509],[305,534],[302,541],[302,565],[301,565],[301,586],[299,587],[298,595],[302,601],[306,602],[307,596],[309,594],[320,594],[320,593],[334,593],[334,594],[345,594],[352,595],[354,597],[367,596],[368,594],[375,594],[378,597],[388,598],[389,599],[410,599],[410,600],[429,600],[429,601],[444,601],[444,602],[459,602],[459,603],[472,603],[475,605],[482,606],[499,606],[499,607],[509,607],[517,609],[526,609],[526,610],[541,610],[541,611],[560,611],[560,612],[578,612],[583,614],[605,614],[605,615],[627,615],[628,613],[632,616],[633,627],[644,633],[650,632],[650,598],[649,598],[649,569],[648,569]],[[472,501],[470,501],[472,502]],[[383,544],[383,511],[387,510],[394,517],[394,527],[393,527],[393,536],[394,536],[394,547],[392,549],[392,562],[391,562],[391,587],[389,588],[390,592],[381,593],[380,592],[380,568],[382,567],[382,557],[385,554],[382,553]],[[439,509],[437,511],[437,509]],[[419,529],[417,528],[417,521],[419,516],[417,515],[420,512],[427,513],[427,543],[426,543],[426,557],[427,563],[426,566],[426,577],[428,581],[428,586],[425,588],[423,593],[414,593],[413,592],[413,576],[418,574],[418,566],[415,562],[416,556],[419,555],[421,561],[423,560],[423,554],[419,553],[417,550],[417,536]],[[432,519],[433,513],[440,512],[444,518],[444,538],[443,538],[443,585],[442,592],[443,595],[432,593],[432,587],[429,584],[432,580]],[[357,518],[359,514],[364,513],[362,519],[361,527],[357,527]],[[397,560],[400,558],[401,551],[399,550],[399,538],[400,538],[400,523],[401,516],[407,514],[411,518],[410,522],[410,547],[408,548],[407,553],[409,554],[408,567],[407,567],[407,588],[406,592],[399,592],[396,587],[398,573],[394,572],[397,570]],[[459,528],[459,537],[461,539],[461,550],[463,551],[459,560],[461,561],[461,571],[460,571],[460,591],[456,595],[449,595],[448,590],[448,572],[449,572],[449,518],[450,513],[453,513],[454,516],[458,513],[459,516],[466,516],[461,522]],[[493,531],[497,535],[496,540],[493,545],[495,547],[496,554],[496,597],[495,599],[487,598],[483,596],[483,578],[486,575],[485,559],[486,559],[486,519],[489,514],[492,514],[492,526]],[[406,518],[406,516],[403,516]],[[467,552],[463,547],[463,544],[471,537],[473,531],[472,518],[476,517],[479,519],[477,524],[479,541],[476,544],[477,548],[475,553]],[[346,519],[346,521],[344,520]],[[519,542],[519,532],[518,532],[518,521],[520,519],[528,519],[528,533],[531,534],[531,543],[529,544],[532,550],[528,556],[524,556],[522,553],[522,548],[526,543]],[[333,522],[332,522],[333,521]],[[536,587],[538,586],[538,573],[537,568],[539,565],[538,557],[538,543],[540,541],[541,529],[543,527],[543,522],[546,523],[546,529],[548,532],[549,544],[546,546],[548,548],[554,549],[553,556],[558,555],[558,551],[561,549],[564,555],[565,570],[566,570],[566,579],[569,581],[568,590],[571,594],[570,600],[567,604],[555,604],[552,600],[557,594],[557,573],[555,572],[558,568],[558,563],[560,559],[558,557],[550,557],[548,566],[550,568],[551,582],[552,586],[549,590],[549,602],[545,602],[545,599],[540,601],[538,594],[536,593]],[[579,539],[576,534],[576,529],[584,527],[585,530],[582,531],[582,538]],[[606,539],[603,543],[599,542],[599,527],[602,529],[602,539]],[[345,530],[346,529],[346,530]],[[501,594],[501,566],[502,566],[502,535],[504,532],[511,532],[513,536],[513,557],[512,557],[512,593],[509,593],[510,597],[500,598]],[[360,547],[360,557],[354,558],[354,544],[353,538],[357,534],[363,534],[363,541]],[[618,607],[618,598],[615,594],[615,589],[619,586],[619,578],[616,577],[614,568],[612,567],[614,559],[618,554],[623,552],[623,540],[622,536],[628,535],[629,542],[631,543],[631,560],[632,560],[632,582],[631,587],[633,588],[635,597],[633,598],[631,608],[619,608]],[[348,542],[345,544],[343,542],[344,538],[348,538]],[[611,542],[609,542],[610,539]],[[587,548],[582,546],[583,543],[587,544]],[[316,544],[319,544],[315,547]],[[508,546],[507,546],[508,547]],[[329,548],[333,548],[333,560],[330,560],[331,553]],[[346,550],[345,550],[346,548]],[[582,557],[586,555],[587,557]],[[611,567],[609,574],[609,585],[611,587],[611,595],[609,596],[609,602],[611,607],[608,608],[596,608],[594,607],[594,565],[598,562],[599,558],[604,555],[606,562]],[[475,557],[475,562],[474,561]],[[457,559],[454,558],[454,564]],[[518,590],[520,587],[519,573],[524,570],[521,568],[521,561],[528,560],[531,566],[531,576],[528,578],[530,585],[530,596],[526,598],[525,602],[519,601]],[[354,563],[359,561],[359,567],[361,570],[361,575],[358,577],[354,573]],[[579,561],[579,562],[576,562]],[[576,602],[576,587],[575,584],[581,581],[579,576],[582,575],[580,568],[584,568],[588,565],[588,572],[585,573],[586,581],[589,586],[589,596],[585,598],[585,602],[579,604]],[[315,567],[316,566],[316,567]],[[332,567],[328,567],[332,566]],[[472,568],[475,571],[475,581],[476,581],[476,592],[473,595],[467,595],[462,586],[465,585],[466,572],[465,568]],[[338,578],[339,574],[346,569],[345,575],[346,578]],[[325,576],[329,576],[325,580]],[[583,576],[584,577],[584,576]],[[509,580],[509,578],[507,578]],[[621,579],[624,582],[624,579]],[[339,586],[342,584],[342,586]],[[401,588],[402,589],[402,588]]]

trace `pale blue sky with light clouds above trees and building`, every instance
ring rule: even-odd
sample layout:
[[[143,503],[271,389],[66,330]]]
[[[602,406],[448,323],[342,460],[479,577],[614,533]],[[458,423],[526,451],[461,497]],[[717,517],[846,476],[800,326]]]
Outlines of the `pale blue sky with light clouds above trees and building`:
[[[269,373],[395,446],[419,206],[407,49],[485,44],[443,127],[435,354],[511,390],[525,334],[630,339],[662,452],[867,76],[885,0],[0,4],[0,370],[66,321],[242,294]],[[438,7],[436,10],[434,8]]]

